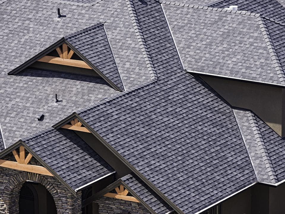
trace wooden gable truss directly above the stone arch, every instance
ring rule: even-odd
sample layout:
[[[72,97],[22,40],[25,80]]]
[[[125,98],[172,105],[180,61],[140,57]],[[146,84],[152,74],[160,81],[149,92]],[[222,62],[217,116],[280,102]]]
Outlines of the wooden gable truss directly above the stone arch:
[[[31,161],[33,155],[29,153],[25,158],[25,147],[20,146],[20,156],[16,150],[13,150],[12,153],[17,162],[0,159],[0,166],[9,169],[17,169],[20,171],[28,171],[37,174],[53,176],[53,174],[51,174],[45,167],[28,164]]]

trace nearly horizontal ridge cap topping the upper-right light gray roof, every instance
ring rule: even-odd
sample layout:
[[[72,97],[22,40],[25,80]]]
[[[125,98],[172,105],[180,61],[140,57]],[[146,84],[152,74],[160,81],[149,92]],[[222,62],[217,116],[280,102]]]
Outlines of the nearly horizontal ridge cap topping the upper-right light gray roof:
[[[219,11],[219,12],[236,13],[236,14],[241,14],[241,15],[261,16],[259,13],[246,12],[246,11],[240,11],[240,10],[236,10],[236,11],[225,10],[224,8],[199,6],[199,5],[194,5],[194,4],[186,4],[186,3],[166,1],[166,0],[159,0],[159,3],[169,4],[169,5],[173,5],[173,6],[190,7],[190,8],[195,8],[195,9],[204,9],[204,10],[213,10],[213,11]]]

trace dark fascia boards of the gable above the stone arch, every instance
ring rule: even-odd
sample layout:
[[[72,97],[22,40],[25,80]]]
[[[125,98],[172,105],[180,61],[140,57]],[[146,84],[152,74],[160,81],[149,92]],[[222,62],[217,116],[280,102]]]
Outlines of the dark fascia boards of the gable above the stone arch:
[[[3,150],[2,152],[0,152],[0,158],[4,157],[5,155],[7,155],[8,153],[12,152],[13,150],[17,149],[19,146],[23,146],[25,147],[25,149],[31,153],[31,155],[33,155],[34,158],[36,158],[37,161],[39,161],[39,163],[41,163],[51,174],[54,175],[54,177],[56,177],[74,196],[77,196],[76,192],[64,181],[62,180],[61,177],[58,176],[58,174],[56,174],[55,171],[53,171],[53,169],[51,169],[36,153],[34,153],[33,150],[31,150],[31,148],[25,144],[22,140],[17,141],[15,144],[11,145],[10,147],[8,147],[7,149]]]

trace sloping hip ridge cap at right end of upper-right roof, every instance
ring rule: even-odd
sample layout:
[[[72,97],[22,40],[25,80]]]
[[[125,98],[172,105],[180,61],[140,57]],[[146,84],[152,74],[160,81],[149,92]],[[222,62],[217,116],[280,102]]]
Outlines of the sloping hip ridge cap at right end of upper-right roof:
[[[269,34],[268,30],[267,30],[267,26],[266,26],[262,16],[257,17],[257,20],[258,20],[257,23],[259,24],[259,27],[260,27],[261,32],[263,34],[263,37],[265,39],[265,43],[266,43],[267,48],[269,50],[270,56],[272,58],[274,67],[276,69],[279,81],[281,83],[284,83],[285,82],[284,70],[283,70],[283,68],[281,66],[281,63],[280,63],[280,60],[279,60],[278,55],[276,53],[274,44],[273,44],[273,42],[271,40],[271,37],[270,37],[270,34]]]

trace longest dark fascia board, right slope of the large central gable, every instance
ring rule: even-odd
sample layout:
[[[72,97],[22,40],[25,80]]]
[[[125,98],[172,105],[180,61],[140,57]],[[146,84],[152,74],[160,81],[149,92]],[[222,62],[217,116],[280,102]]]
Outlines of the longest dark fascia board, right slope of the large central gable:
[[[75,113],[76,114],[76,113]],[[160,192],[149,180],[147,180],[137,169],[134,168],[125,158],[123,158],[110,144],[108,144],[91,126],[88,125],[78,114],[77,119],[93,134],[105,147],[107,147],[119,160],[126,164],[132,172],[134,172],[143,182],[145,182],[159,197],[170,205],[177,213],[184,214],[173,202],[171,202],[162,192]],[[62,120],[64,121],[64,120]],[[59,125],[58,125],[59,126]],[[57,126],[57,127],[58,127]],[[54,127],[55,128],[55,127]]]

